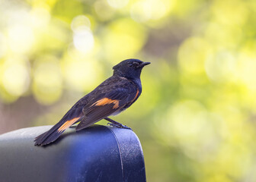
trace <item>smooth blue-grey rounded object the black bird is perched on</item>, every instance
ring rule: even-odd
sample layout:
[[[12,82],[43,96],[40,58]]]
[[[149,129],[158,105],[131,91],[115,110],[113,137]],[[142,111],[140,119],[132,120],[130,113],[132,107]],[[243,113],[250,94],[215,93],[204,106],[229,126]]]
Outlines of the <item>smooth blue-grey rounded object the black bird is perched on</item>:
[[[55,143],[34,146],[34,137],[50,127],[0,135],[1,181],[146,181],[142,147],[132,130],[70,128]]]

